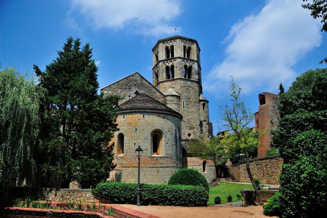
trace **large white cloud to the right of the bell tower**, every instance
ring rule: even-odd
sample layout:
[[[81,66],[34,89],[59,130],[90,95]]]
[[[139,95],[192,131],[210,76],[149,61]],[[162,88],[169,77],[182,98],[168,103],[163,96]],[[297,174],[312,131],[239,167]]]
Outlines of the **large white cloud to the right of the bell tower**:
[[[244,93],[289,84],[296,76],[292,67],[321,44],[320,25],[298,1],[268,1],[259,14],[230,28],[223,41],[229,42],[226,57],[211,69],[203,87],[218,96],[228,89],[229,75]]]

